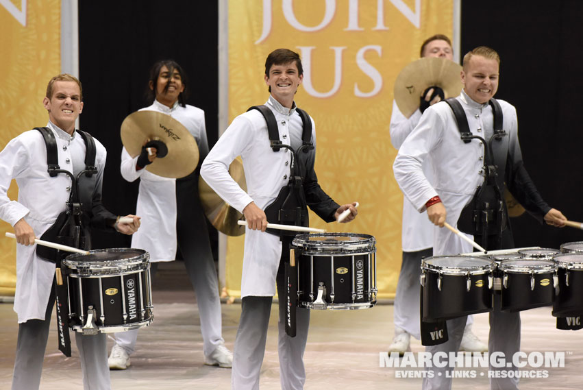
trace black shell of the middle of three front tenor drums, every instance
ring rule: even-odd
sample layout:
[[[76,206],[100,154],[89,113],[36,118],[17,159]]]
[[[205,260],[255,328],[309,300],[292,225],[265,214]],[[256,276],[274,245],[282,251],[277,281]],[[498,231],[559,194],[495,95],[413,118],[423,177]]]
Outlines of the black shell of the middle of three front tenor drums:
[[[553,272],[535,273],[534,289],[531,289],[530,273],[505,272],[502,277],[501,310],[517,312],[553,304],[555,295],[553,274]],[[504,287],[506,276],[508,283]]]

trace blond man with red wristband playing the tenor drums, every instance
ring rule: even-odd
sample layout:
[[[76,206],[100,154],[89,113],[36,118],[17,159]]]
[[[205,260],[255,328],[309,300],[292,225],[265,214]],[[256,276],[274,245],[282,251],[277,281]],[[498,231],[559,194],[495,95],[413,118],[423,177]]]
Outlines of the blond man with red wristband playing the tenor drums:
[[[399,186],[417,210],[427,210],[436,226],[443,227],[446,221],[457,226],[488,250],[514,247],[501,195],[504,186],[538,221],[560,227],[567,220],[545,203],[530,180],[522,160],[514,106],[493,99],[498,88],[499,62],[496,51],[488,47],[467,53],[461,72],[461,95],[425,110],[401,145],[393,165]],[[426,158],[432,160],[434,185],[423,173]],[[482,215],[488,215],[488,219]],[[449,230],[436,232],[434,255],[471,251],[469,243]],[[499,296],[494,301],[488,351],[503,352],[506,359],[511,359],[520,348],[520,314],[501,312]],[[427,351],[457,351],[466,319],[448,320],[449,341],[427,347]],[[452,367],[434,367],[437,372],[434,378],[423,380],[423,389],[451,389],[451,375],[445,375],[451,370]],[[517,385],[517,378],[491,378],[491,389],[512,390]]]

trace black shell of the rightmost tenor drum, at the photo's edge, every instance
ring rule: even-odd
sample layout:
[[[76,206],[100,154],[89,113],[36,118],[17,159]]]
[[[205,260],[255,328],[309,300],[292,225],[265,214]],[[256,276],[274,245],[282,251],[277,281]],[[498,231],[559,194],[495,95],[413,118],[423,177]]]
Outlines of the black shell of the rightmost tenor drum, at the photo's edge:
[[[569,270],[569,286],[566,283],[567,269],[558,268],[558,293],[553,302],[553,315],[565,317],[583,313],[583,269]]]

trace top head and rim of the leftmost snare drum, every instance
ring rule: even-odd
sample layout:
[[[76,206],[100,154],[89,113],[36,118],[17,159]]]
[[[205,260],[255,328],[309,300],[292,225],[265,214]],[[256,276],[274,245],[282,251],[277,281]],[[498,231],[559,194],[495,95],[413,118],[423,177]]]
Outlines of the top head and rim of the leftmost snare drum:
[[[149,254],[144,249],[111,248],[95,249],[89,254],[70,254],[62,264],[79,274],[103,275],[144,269],[149,264],[148,259]]]

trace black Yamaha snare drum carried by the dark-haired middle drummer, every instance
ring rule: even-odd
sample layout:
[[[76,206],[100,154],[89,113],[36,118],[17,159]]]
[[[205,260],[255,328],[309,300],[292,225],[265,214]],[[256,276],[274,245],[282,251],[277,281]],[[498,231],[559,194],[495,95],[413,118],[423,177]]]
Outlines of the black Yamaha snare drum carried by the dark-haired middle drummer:
[[[375,238],[369,234],[299,234],[292,242],[298,306],[310,309],[371,308],[377,302]]]

